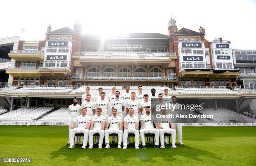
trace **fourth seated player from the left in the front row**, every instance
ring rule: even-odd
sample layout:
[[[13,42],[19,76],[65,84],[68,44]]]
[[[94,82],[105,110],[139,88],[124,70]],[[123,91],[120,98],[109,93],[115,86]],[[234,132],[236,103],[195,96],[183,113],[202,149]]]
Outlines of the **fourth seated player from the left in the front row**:
[[[138,117],[133,115],[133,108],[129,108],[129,115],[125,116],[123,120],[123,149],[127,148],[127,138],[129,133],[135,135],[135,148],[139,149],[139,131],[138,131]]]

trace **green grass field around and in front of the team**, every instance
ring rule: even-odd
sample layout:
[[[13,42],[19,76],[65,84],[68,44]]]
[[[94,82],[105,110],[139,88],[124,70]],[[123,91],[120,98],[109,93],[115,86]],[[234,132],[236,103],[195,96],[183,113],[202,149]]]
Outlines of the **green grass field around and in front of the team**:
[[[148,145],[139,150],[133,144],[126,150],[68,149],[67,130],[67,126],[0,126],[0,157],[31,157],[32,164],[22,165],[36,166],[256,165],[256,127],[183,127],[184,146]]]

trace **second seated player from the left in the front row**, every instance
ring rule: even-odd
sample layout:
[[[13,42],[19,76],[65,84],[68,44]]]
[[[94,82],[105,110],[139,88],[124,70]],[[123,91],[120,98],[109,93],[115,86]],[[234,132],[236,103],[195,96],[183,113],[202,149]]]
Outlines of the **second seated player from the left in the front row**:
[[[105,116],[101,115],[102,109],[96,109],[97,114],[92,116],[91,128],[89,131],[89,149],[93,148],[93,134],[99,133],[100,140],[99,140],[99,149],[102,148],[102,143],[104,139],[104,126],[105,126]]]

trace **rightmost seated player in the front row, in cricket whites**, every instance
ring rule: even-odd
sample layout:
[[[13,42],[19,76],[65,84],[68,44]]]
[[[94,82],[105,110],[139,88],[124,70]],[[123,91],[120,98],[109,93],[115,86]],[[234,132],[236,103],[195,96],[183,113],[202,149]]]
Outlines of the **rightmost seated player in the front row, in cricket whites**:
[[[162,109],[162,115],[166,115],[166,109],[165,108]],[[171,128],[170,128],[170,125],[171,125]],[[172,146],[171,146],[171,148],[177,149],[177,146],[175,145],[176,131],[174,129],[173,123],[169,123],[165,119],[159,119],[158,122],[157,122],[157,126],[160,129],[160,140],[161,140],[160,148],[164,148],[164,133],[171,133],[172,134]]]

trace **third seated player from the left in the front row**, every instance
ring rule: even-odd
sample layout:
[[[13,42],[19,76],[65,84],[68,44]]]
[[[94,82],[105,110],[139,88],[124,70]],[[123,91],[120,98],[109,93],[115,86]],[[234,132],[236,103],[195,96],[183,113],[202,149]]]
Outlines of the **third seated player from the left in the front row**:
[[[118,134],[118,149],[121,148],[121,143],[123,139],[123,126],[122,126],[122,118],[117,116],[117,109],[113,109],[113,115],[108,118],[107,125],[105,128],[105,148],[110,148],[108,136],[111,133]]]

